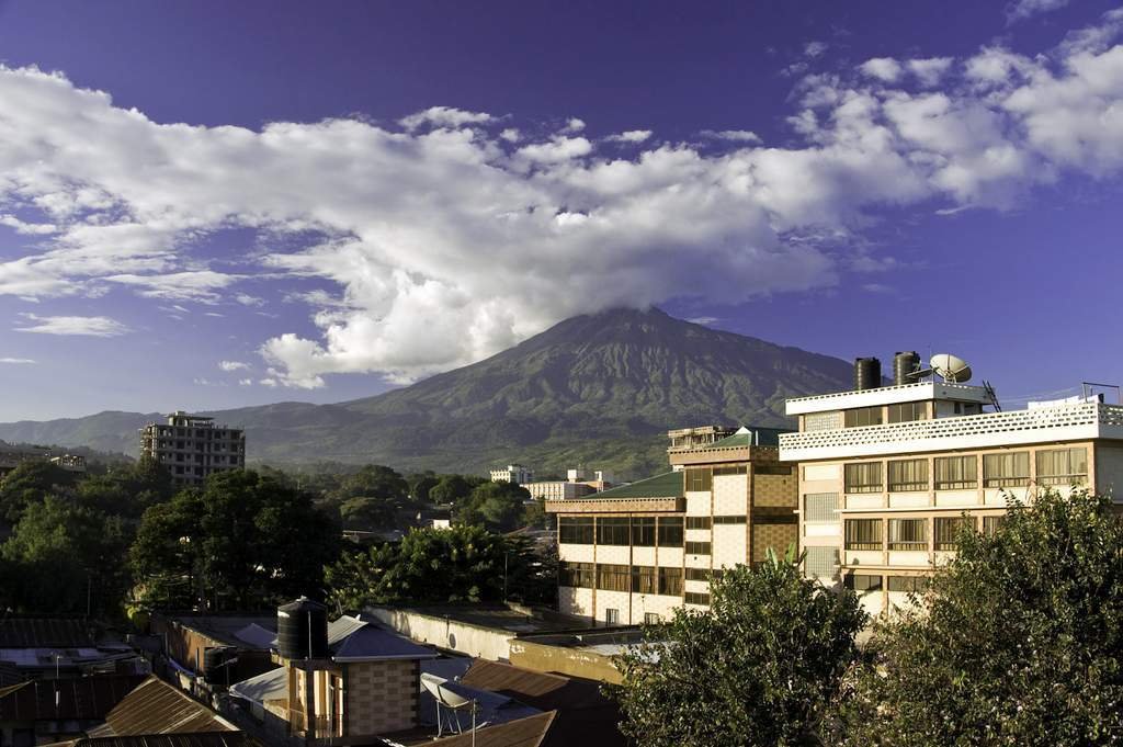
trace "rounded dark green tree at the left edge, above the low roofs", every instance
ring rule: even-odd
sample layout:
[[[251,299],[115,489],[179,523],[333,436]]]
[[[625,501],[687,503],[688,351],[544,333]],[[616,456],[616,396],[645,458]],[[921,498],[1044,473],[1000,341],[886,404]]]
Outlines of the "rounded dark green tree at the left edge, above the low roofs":
[[[120,519],[48,495],[28,505],[3,544],[12,607],[35,613],[115,616],[128,587]]]

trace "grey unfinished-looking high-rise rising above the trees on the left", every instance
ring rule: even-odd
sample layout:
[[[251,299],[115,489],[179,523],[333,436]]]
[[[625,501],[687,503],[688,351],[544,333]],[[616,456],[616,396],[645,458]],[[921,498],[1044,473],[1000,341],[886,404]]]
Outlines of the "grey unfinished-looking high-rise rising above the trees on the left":
[[[246,434],[180,410],[140,429],[140,454],[167,467],[174,484],[200,485],[216,472],[246,466]]]

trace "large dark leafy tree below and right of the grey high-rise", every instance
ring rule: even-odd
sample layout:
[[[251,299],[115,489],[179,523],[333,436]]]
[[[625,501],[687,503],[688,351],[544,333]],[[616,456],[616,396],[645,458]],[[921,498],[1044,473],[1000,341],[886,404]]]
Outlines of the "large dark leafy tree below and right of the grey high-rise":
[[[149,603],[247,609],[318,594],[338,543],[307,493],[234,471],[148,509],[131,563]]]

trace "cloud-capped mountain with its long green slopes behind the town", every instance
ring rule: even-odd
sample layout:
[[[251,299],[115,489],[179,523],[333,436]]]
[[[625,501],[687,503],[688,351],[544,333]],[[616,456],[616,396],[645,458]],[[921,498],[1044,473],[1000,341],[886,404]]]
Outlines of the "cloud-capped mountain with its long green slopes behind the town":
[[[246,429],[252,463],[481,473],[519,462],[539,474],[582,463],[638,477],[666,465],[669,428],[789,426],[785,398],[850,382],[850,364],[839,358],[657,309],[617,309],[567,319],[486,361],[376,397],[204,415]],[[161,418],[100,412],[0,423],[0,439],[135,455],[137,428]]]

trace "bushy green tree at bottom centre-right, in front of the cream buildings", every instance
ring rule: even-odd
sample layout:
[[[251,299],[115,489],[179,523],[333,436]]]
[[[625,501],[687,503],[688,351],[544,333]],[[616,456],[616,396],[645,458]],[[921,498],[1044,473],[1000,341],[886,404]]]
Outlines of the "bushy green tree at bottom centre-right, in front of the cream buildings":
[[[711,610],[678,609],[617,658],[608,690],[621,730],[652,747],[820,744],[821,721],[857,655],[865,613],[779,561],[737,566],[711,586]]]

